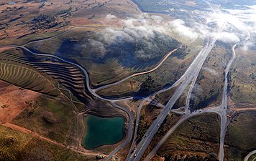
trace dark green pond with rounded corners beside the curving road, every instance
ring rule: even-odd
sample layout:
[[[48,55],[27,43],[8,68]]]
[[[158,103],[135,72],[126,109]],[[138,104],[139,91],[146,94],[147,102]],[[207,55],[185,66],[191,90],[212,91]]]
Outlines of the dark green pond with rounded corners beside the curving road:
[[[83,147],[92,150],[101,145],[114,145],[123,138],[123,117],[103,118],[88,114],[86,122],[86,136],[83,138]]]

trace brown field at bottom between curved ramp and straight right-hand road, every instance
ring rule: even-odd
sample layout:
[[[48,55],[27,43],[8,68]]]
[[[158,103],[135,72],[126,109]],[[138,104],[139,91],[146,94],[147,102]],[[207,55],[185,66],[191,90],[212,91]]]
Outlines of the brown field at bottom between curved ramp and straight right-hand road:
[[[206,157],[214,159],[219,153],[219,129],[217,114],[191,117],[170,135],[157,155],[169,160],[188,160],[198,155],[200,160],[206,160]]]

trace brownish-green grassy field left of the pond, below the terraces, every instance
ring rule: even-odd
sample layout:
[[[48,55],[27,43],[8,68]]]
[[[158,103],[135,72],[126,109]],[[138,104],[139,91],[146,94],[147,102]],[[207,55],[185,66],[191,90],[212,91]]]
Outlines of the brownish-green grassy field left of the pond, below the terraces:
[[[41,96],[13,122],[52,140],[77,145],[82,132],[82,120],[79,119],[70,102]]]

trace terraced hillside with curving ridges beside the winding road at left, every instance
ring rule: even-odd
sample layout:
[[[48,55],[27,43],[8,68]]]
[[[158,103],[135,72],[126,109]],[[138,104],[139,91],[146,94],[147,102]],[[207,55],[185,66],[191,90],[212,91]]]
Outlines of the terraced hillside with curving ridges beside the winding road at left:
[[[0,79],[54,97],[64,97],[65,94],[81,104],[80,100],[85,97],[85,78],[77,67],[55,60],[30,59],[19,52],[1,53]]]

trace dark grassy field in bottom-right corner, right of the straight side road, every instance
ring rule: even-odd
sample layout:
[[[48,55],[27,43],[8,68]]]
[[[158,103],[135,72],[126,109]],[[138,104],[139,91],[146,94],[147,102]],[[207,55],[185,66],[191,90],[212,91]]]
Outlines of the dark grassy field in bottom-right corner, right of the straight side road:
[[[242,161],[256,149],[255,113],[241,113],[230,122],[225,139],[227,160]]]

